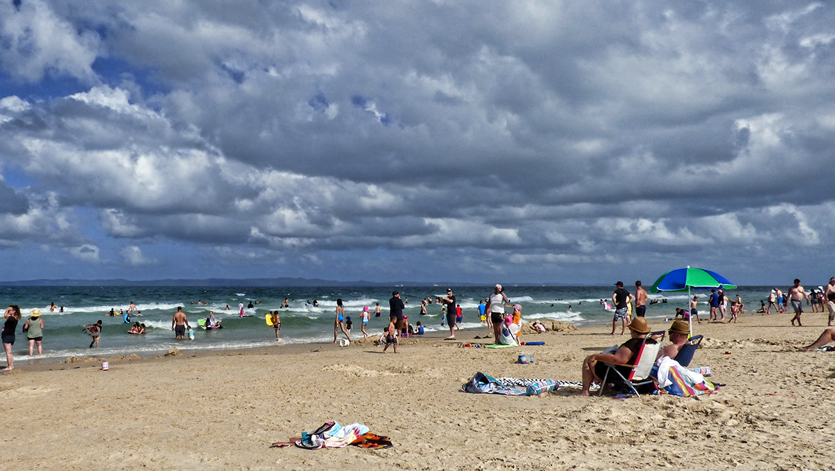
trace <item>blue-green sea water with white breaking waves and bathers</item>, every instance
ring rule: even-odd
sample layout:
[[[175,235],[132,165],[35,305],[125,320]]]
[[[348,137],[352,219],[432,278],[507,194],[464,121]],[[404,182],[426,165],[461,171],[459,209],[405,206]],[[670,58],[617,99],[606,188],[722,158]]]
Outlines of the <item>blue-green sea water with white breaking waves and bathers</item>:
[[[482,328],[478,318],[478,302],[491,292],[490,286],[449,286],[455,290],[458,304],[463,310],[463,329]],[[632,286],[627,289],[630,289]],[[43,312],[43,356],[58,360],[70,356],[89,355],[90,337],[82,332],[86,324],[101,320],[103,323],[99,356],[128,355],[130,353],[154,354],[167,352],[172,347],[181,350],[204,349],[223,350],[247,347],[281,346],[290,343],[332,342],[336,318],[336,300],[342,298],[345,315],[353,322],[352,338],[362,337],[362,307],[368,306],[372,317],[366,331],[377,337],[388,322],[388,300],[392,290],[401,292],[401,298],[408,300],[404,314],[412,325],[418,321],[428,332],[447,331],[441,327],[441,305],[434,302],[436,297],[446,295],[447,286],[390,286],[390,287],[194,287],[194,286],[0,286],[0,304],[17,304],[23,312],[23,319],[16,332],[17,342],[13,347],[16,360],[27,360],[28,342],[21,332],[23,323],[32,309]],[[760,299],[766,299],[771,287],[741,287],[728,291],[731,299],[739,294],[746,302],[746,311],[759,308]],[[600,300],[611,298],[614,286],[506,286],[505,294],[511,304],[522,306],[522,318],[534,320],[555,320],[571,322],[582,326],[606,324],[612,321],[612,312],[600,305]],[[709,291],[694,291],[700,295],[699,311],[706,319],[708,308],[705,301]],[[278,310],[281,301],[290,300],[289,308],[281,308],[281,341],[276,342],[275,331],[266,325],[264,316],[268,311]],[[428,315],[420,315],[420,301],[431,298],[427,306]],[[688,307],[685,293],[650,294],[650,299],[666,299],[647,306],[646,317],[650,327],[665,329],[664,318],[674,317],[676,307]],[[313,306],[316,300],[318,306]],[[119,309],[127,311],[129,303],[141,311],[141,317],[132,317],[131,323],[124,323]],[[198,305],[201,301],[203,304]],[[238,303],[252,308],[245,309],[239,317]],[[50,303],[56,309],[49,311]],[[376,303],[382,308],[382,317],[374,317]],[[227,310],[226,306],[230,309]],[[59,312],[63,306],[63,312]],[[195,340],[177,341],[171,331],[171,317],[177,306],[183,306],[192,327]],[[570,310],[569,310],[570,306]],[[107,314],[110,309],[115,317]],[[215,312],[224,328],[204,331],[198,327],[198,320]],[[507,308],[509,313],[512,309]],[[133,322],[143,322],[147,334],[133,335],[128,330]],[[342,337],[342,332],[339,334]]]

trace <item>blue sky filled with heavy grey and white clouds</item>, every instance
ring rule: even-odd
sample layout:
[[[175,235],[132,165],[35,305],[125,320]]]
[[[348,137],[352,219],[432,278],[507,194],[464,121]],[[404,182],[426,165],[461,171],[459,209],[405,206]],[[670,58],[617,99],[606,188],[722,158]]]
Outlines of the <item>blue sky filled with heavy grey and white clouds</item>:
[[[835,5],[0,0],[0,281],[835,275]]]

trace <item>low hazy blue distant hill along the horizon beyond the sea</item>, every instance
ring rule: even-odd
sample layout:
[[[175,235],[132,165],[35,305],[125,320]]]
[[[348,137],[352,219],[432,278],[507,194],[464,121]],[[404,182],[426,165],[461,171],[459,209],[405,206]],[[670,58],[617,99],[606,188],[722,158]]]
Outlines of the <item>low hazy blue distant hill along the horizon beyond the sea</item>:
[[[333,281],[318,278],[208,278],[205,280],[26,280],[0,281],[0,286],[482,286],[479,283],[419,281]]]

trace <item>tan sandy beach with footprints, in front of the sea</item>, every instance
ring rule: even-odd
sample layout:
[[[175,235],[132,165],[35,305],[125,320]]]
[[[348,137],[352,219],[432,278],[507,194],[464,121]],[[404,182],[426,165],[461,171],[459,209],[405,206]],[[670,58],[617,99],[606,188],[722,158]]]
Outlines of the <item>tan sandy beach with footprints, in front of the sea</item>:
[[[404,339],[396,355],[366,342],[114,357],[109,371],[102,359],[22,362],[0,377],[0,468],[830,469],[835,352],[797,348],[826,315],[790,317],[696,325],[706,341],[691,366],[726,384],[699,398],[460,392],[479,371],[579,381],[586,355],[626,340],[610,326],[503,350],[463,347],[485,330]],[[520,353],[535,362],[517,364]],[[328,420],[364,423],[394,448],[270,448]]]

